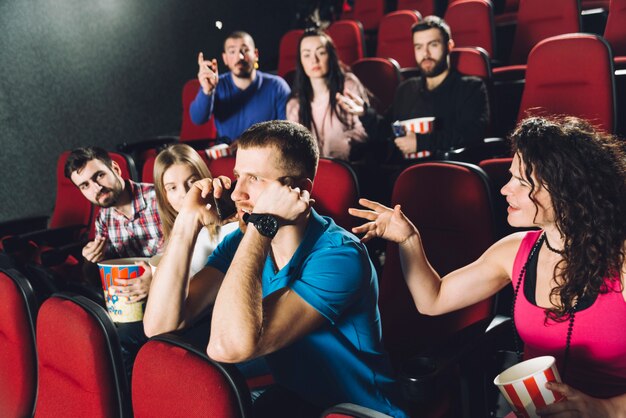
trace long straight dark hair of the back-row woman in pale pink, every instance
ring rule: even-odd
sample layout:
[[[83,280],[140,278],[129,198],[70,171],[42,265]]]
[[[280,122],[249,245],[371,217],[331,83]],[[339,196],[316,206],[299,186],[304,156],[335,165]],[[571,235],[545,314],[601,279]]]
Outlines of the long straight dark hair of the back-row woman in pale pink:
[[[328,86],[330,111],[331,115],[334,114],[343,124],[347,124],[346,117],[343,115],[341,109],[338,109],[337,93],[343,94],[343,87],[346,79],[346,66],[344,66],[339,57],[337,56],[337,48],[333,40],[328,34],[320,29],[307,29],[300,37],[298,42],[298,52],[296,59],[296,76],[293,83],[293,90],[291,96],[298,99],[300,110],[298,111],[299,122],[311,129],[311,131],[317,132],[315,122],[313,122],[313,116],[311,111],[311,102],[313,101],[313,87],[311,86],[311,80],[309,76],[304,72],[302,66],[302,59],[300,58],[300,46],[305,38],[319,36],[326,40],[326,53],[328,54],[328,73],[326,74],[326,85]],[[319,136],[319,135],[318,135]]]

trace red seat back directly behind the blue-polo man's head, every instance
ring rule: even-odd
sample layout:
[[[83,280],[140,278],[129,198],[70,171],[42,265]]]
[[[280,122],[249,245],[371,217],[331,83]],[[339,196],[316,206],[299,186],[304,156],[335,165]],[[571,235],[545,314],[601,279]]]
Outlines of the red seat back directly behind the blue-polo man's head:
[[[330,216],[348,231],[358,224],[356,218],[348,214],[348,208],[355,207],[359,199],[356,175],[348,164],[320,158],[311,196],[320,215]]]

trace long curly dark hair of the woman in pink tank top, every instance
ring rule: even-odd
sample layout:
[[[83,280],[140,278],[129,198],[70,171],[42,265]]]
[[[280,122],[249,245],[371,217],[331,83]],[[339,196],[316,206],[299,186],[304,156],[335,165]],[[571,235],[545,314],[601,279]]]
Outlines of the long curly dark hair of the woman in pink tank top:
[[[537,207],[534,190],[548,190],[564,238],[550,293],[550,300],[558,296],[561,302],[546,310],[546,320],[564,321],[583,296],[607,293],[607,280],[623,289],[626,149],[623,141],[571,116],[527,118],[510,140],[524,162],[530,199]]]

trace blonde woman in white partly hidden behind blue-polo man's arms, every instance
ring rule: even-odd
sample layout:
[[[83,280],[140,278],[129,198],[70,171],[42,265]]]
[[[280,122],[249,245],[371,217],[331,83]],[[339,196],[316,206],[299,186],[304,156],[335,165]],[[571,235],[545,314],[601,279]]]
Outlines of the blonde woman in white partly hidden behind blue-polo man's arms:
[[[191,185],[197,180],[211,177],[200,155],[189,145],[175,144],[159,153],[154,163],[154,186],[159,216],[163,223],[165,245],[167,245],[174,220]],[[196,241],[189,266],[189,276],[200,271],[207,257],[222,238],[236,229],[236,222],[222,227],[211,225],[203,228]]]

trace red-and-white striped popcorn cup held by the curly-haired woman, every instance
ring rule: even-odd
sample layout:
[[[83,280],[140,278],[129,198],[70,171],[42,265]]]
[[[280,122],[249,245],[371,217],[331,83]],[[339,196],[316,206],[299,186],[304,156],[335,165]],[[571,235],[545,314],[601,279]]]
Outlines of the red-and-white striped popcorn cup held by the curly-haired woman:
[[[558,392],[546,389],[546,382],[560,382],[552,356],[535,357],[509,367],[493,380],[517,417],[538,418],[537,408],[561,400]]]

